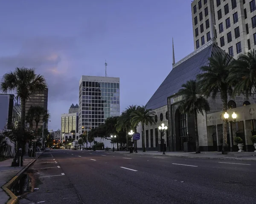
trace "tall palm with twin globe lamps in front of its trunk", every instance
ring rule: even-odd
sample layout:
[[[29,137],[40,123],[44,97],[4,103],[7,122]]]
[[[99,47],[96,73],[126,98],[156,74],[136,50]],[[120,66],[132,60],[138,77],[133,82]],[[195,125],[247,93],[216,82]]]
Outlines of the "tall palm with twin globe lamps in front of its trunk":
[[[227,53],[217,53],[209,58],[209,66],[201,67],[203,73],[198,74],[197,78],[200,82],[201,93],[215,99],[218,92],[221,94],[221,101],[223,103],[223,114],[227,111],[227,94],[233,92],[233,84],[228,80],[230,69],[233,66],[233,58]],[[227,148],[227,121],[222,121],[223,130],[223,145],[222,154]]]

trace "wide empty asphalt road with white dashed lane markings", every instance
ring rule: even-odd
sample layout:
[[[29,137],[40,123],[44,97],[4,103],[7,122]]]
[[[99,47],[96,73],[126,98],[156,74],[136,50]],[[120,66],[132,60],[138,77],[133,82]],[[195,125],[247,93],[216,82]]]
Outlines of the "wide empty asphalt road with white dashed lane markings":
[[[20,204],[256,203],[256,162],[134,154],[45,152]]]

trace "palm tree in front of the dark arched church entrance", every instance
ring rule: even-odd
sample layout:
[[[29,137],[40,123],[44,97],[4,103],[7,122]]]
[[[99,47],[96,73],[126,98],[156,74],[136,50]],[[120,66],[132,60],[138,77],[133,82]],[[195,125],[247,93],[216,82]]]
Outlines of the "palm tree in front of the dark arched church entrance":
[[[195,153],[201,153],[198,138],[197,114],[201,113],[204,115],[204,111],[209,111],[209,103],[207,99],[200,95],[198,83],[195,80],[189,80],[181,87],[183,88],[177,92],[177,95],[183,95],[184,101],[180,104],[179,110],[182,113],[193,114],[195,116]]]

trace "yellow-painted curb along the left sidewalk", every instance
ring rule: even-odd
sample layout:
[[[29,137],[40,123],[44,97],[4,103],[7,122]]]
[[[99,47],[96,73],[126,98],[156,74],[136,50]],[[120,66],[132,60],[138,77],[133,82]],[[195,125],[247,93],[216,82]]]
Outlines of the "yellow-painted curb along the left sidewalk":
[[[44,152],[43,152],[44,153]],[[42,153],[42,154],[43,154]],[[42,155],[41,154],[41,155]],[[18,172],[11,181],[7,182],[6,184],[4,184],[2,186],[2,189],[6,192],[7,195],[9,195],[10,199],[6,202],[6,204],[17,204],[19,203],[19,199],[17,198],[16,195],[14,195],[14,193],[12,193],[11,190],[9,190],[10,187],[12,187],[13,183],[20,178],[20,175],[23,174],[24,171],[26,171],[41,155],[37,156],[37,158],[33,159],[32,161],[29,162],[29,164],[26,165],[26,167],[23,167],[22,170],[20,170],[20,172]]]

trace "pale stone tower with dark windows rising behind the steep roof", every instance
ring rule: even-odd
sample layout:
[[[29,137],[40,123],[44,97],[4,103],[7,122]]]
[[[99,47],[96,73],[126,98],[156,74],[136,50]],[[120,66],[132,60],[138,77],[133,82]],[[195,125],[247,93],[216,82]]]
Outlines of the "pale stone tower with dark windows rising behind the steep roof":
[[[194,0],[191,3],[195,50],[214,39],[237,58],[255,49],[255,0]]]

